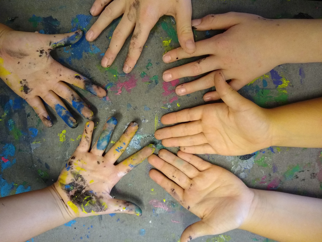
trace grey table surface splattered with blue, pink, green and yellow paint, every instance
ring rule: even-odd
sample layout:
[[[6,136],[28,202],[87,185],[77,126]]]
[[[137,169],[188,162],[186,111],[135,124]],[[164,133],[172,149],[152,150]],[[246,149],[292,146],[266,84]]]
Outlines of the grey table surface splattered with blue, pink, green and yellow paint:
[[[86,31],[96,20],[88,13],[91,5],[92,1],[77,0],[2,0],[0,22],[15,30],[45,34],[64,33],[78,28]],[[193,0],[193,18],[229,11],[267,18],[292,18],[301,12],[321,18],[322,3],[296,0]],[[89,43],[82,38],[76,45],[58,49],[53,57],[64,66],[96,80],[108,90],[108,96],[102,99],[77,90],[94,111],[96,130],[102,128],[107,117],[117,117],[119,123],[112,136],[113,142],[130,121],[139,123],[139,131],[123,155],[125,157],[150,142],[155,143],[158,149],[162,148],[161,143],[153,137],[154,131],[162,126],[160,117],[167,112],[203,104],[205,91],[178,97],[174,93],[175,86],[193,78],[163,82],[161,75],[164,70],[188,62],[162,62],[163,53],[179,46],[175,22],[167,16],[162,17],[153,28],[130,74],[122,72],[129,40],[112,66],[101,67],[100,59],[118,21],[115,20],[105,29],[96,41]],[[215,33],[195,32],[195,39],[208,38]],[[265,33],[262,37],[265,38]],[[292,36],[281,37],[292,39]],[[263,107],[322,96],[321,67],[321,63],[281,65],[242,88],[240,93]],[[79,127],[69,128],[50,110],[50,115],[56,118],[54,126],[46,128],[23,99],[3,82],[0,83],[1,197],[43,188],[57,179],[65,161],[78,145],[86,121],[75,112],[73,114],[80,123]],[[94,138],[98,133],[95,132]],[[269,147],[249,156],[202,157],[231,170],[249,187],[322,198],[321,149]],[[198,218],[148,177],[150,168],[144,161],[112,190],[112,195],[138,204],[143,211],[142,217],[110,214],[79,218],[29,241],[178,241],[183,229]],[[19,230],[18,227],[16,229]],[[233,230],[194,241],[270,240],[246,231]]]

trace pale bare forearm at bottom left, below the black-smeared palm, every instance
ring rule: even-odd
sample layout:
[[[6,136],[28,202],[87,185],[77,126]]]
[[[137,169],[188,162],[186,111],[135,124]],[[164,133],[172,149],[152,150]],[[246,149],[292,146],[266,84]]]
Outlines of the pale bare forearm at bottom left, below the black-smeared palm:
[[[3,242],[26,241],[73,218],[53,185],[0,198],[0,238]]]

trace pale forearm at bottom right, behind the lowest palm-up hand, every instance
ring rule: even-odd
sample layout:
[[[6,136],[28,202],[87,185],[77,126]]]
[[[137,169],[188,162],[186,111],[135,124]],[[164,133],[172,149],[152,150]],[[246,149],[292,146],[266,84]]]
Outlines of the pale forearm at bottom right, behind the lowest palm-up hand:
[[[240,229],[278,241],[321,241],[322,199],[252,190],[253,208]]]

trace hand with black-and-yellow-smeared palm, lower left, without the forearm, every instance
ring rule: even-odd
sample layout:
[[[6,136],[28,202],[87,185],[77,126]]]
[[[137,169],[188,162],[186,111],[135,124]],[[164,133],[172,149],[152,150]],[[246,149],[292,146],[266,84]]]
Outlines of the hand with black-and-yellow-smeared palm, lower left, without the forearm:
[[[140,216],[142,213],[137,205],[112,198],[109,193],[123,176],[151,155],[155,147],[148,145],[114,165],[138,128],[136,122],[131,122],[119,140],[103,156],[116,124],[117,120],[110,117],[99,139],[90,149],[94,123],[87,122],[79,146],[68,160],[58,181],[54,183],[71,217],[121,212]]]

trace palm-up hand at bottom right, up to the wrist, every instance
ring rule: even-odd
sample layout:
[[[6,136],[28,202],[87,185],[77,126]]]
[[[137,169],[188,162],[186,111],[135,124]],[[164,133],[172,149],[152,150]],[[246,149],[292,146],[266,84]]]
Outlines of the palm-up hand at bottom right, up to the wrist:
[[[185,229],[180,241],[221,234],[238,228],[248,217],[254,193],[231,172],[201,158],[178,151],[160,150],[148,162],[150,177],[183,207],[201,218]],[[168,178],[167,178],[167,177]]]

